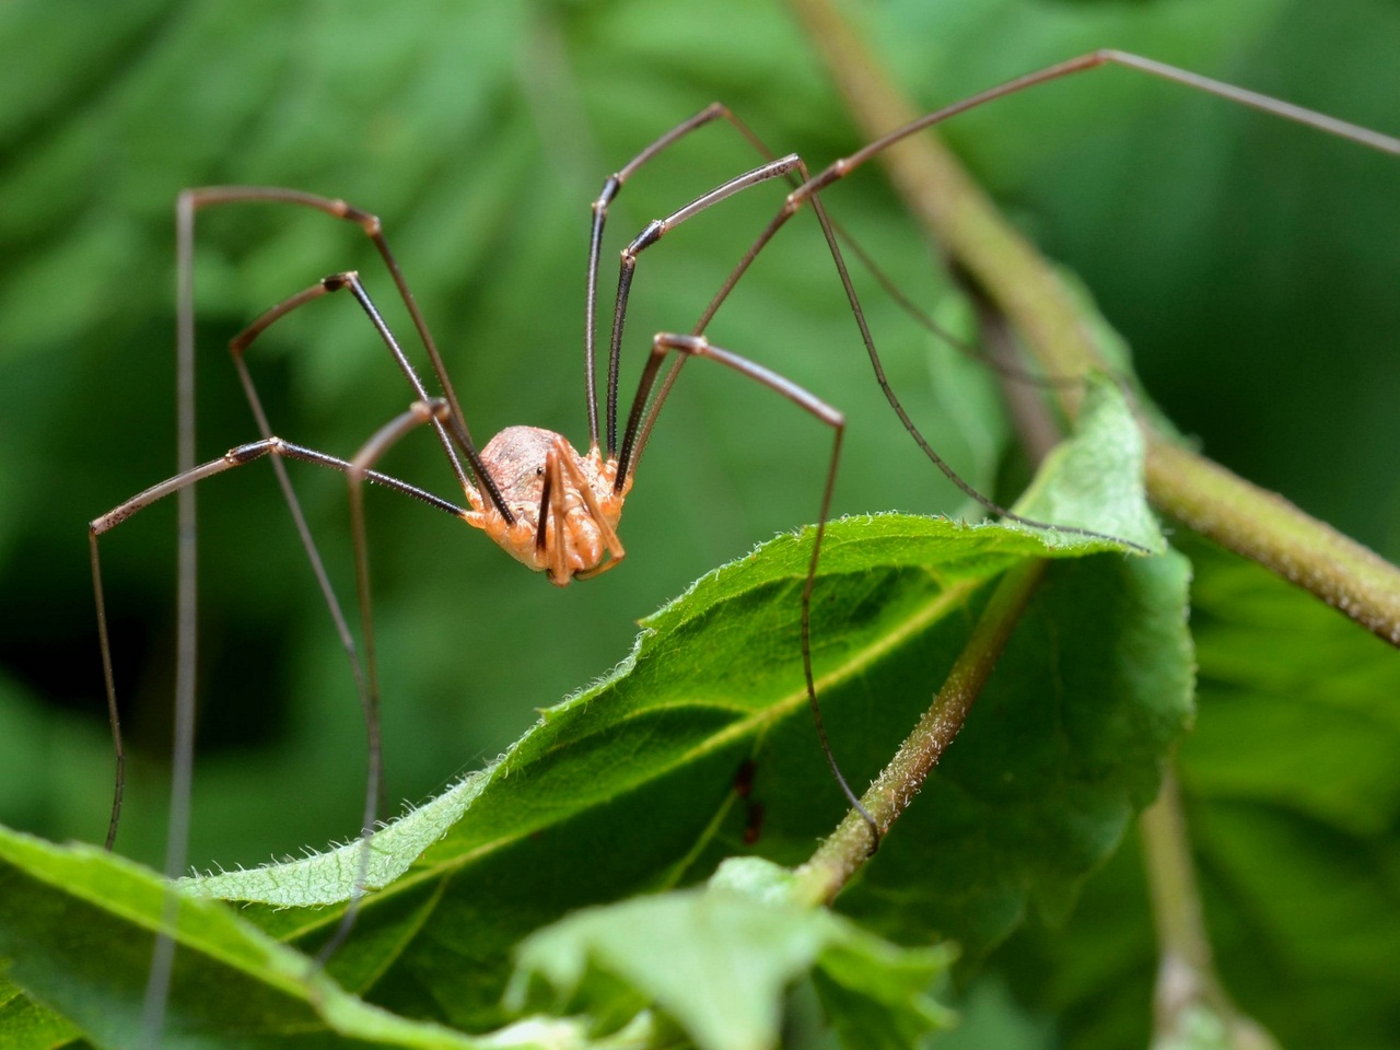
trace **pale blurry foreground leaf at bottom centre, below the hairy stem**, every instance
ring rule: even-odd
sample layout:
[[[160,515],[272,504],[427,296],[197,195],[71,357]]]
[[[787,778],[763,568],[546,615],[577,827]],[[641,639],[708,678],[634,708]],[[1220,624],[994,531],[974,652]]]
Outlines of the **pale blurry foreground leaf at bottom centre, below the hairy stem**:
[[[591,972],[612,997],[582,1005],[595,1015],[634,990],[655,1001],[701,1050],[776,1046],[784,991],[813,972],[848,1047],[907,1047],[946,1023],[925,998],[952,959],[945,949],[900,949],[823,909],[792,903],[783,869],[729,861],[704,889],[678,890],[577,911],[521,946],[511,998],[532,977],[561,1001],[578,1001]]]

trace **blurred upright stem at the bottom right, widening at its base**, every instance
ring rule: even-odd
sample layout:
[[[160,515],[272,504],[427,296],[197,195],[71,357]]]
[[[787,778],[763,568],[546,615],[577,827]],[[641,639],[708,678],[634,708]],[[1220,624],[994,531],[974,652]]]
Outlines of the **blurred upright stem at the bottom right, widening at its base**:
[[[1224,1026],[1225,1046],[1235,1050],[1277,1050],[1256,1021],[1239,1012],[1215,974],[1210,938],[1201,916],[1191,847],[1176,777],[1162,780],[1162,792],[1138,822],[1152,918],[1156,924],[1158,972],[1154,994],[1154,1046],[1183,1046],[1201,1015]]]

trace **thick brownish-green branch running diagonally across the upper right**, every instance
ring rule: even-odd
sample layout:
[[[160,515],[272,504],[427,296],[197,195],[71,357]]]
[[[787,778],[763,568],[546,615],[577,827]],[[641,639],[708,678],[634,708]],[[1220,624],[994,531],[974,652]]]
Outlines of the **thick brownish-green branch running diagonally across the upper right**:
[[[829,0],[790,3],[867,134],[918,116]],[[1086,315],[1054,267],[1001,217],[932,133],[886,150],[881,160],[920,223],[1011,319],[1046,371],[1081,375],[1103,367],[1092,333],[1105,322]],[[1078,389],[1063,386],[1058,396],[1072,419]],[[1400,647],[1400,568],[1149,427],[1147,447],[1147,491],[1158,510]]]

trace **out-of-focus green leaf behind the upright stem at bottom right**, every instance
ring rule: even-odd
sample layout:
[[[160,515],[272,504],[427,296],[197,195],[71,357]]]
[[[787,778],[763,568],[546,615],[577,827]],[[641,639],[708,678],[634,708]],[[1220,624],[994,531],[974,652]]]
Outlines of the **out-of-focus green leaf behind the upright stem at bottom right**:
[[[1400,657],[1204,540],[1193,560],[1198,718],[1179,752],[1205,918],[1225,986],[1282,1046],[1393,1044]],[[1085,1050],[1147,1039],[1155,946],[1135,851],[1063,930],[995,960]]]

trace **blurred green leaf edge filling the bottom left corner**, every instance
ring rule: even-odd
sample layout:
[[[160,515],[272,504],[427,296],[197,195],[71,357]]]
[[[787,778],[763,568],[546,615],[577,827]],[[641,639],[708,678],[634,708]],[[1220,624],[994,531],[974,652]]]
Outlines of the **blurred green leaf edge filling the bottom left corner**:
[[[88,846],[57,847],[0,829],[0,955],[8,977],[98,1046],[139,1046],[161,879]],[[406,1021],[347,995],[312,960],[224,904],[181,900],[179,953],[164,1039],[195,1046],[321,1046],[332,1035],[370,1046],[472,1050],[536,1046],[503,1033],[473,1040]],[[0,1035],[22,1046],[71,1036],[48,1009],[3,1000]]]

